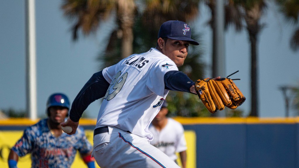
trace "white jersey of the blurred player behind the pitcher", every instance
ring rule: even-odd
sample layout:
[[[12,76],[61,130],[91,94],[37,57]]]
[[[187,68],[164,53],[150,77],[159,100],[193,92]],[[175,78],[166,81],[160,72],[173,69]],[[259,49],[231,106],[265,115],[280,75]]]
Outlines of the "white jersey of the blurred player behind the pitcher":
[[[160,149],[171,159],[177,159],[176,152],[187,150],[184,128],[176,120],[167,118],[167,124],[161,131],[150,124],[149,131],[154,136],[150,144]]]

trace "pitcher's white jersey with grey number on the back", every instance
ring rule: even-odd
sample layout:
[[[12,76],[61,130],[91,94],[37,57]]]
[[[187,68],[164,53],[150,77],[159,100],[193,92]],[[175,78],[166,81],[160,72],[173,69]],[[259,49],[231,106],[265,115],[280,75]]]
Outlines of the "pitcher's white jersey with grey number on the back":
[[[103,69],[110,86],[96,128],[115,126],[152,140],[148,127],[169,91],[164,89],[164,74],[173,70],[178,71],[176,64],[155,48]]]

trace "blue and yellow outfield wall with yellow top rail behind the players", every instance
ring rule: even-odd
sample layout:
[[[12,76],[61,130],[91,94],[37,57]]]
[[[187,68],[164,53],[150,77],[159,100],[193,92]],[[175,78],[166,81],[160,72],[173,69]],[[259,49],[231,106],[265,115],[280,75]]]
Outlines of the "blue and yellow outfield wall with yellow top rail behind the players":
[[[175,120],[185,129],[188,168],[297,168],[299,165],[299,117],[177,117]],[[22,136],[22,130],[36,122],[28,119],[0,120],[0,167],[7,163],[7,152]],[[80,120],[91,143],[95,123],[95,120]],[[23,158],[26,165],[28,160],[29,157]],[[22,159],[19,164],[22,164]],[[79,165],[84,167],[84,163],[76,158],[72,167]]]

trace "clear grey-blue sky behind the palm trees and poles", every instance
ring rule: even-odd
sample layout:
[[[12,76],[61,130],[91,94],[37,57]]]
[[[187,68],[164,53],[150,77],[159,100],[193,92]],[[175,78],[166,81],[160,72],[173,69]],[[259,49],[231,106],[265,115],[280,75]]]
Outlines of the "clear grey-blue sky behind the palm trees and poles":
[[[60,9],[62,1],[36,1],[37,108],[45,114],[47,98],[54,92],[65,93],[72,102],[77,93],[99,71],[97,55],[104,52],[113,27],[111,19],[96,34],[71,40],[70,22]],[[0,109],[26,108],[25,96],[25,1],[0,1]],[[200,17],[189,23],[202,34],[203,61],[210,76],[211,30],[207,26],[209,9],[200,8]],[[293,26],[286,23],[273,4],[263,16],[265,23],[258,42],[259,109],[261,117],[283,117],[284,100],[280,85],[299,84],[299,51],[289,48]],[[108,25],[107,25],[108,24]],[[225,34],[226,74],[239,70],[234,78],[247,97],[240,106],[245,115],[250,110],[250,44],[245,30],[228,29]],[[195,80],[195,79],[193,79]],[[97,117],[100,101],[92,103],[87,113]],[[291,115],[295,110],[291,109]]]

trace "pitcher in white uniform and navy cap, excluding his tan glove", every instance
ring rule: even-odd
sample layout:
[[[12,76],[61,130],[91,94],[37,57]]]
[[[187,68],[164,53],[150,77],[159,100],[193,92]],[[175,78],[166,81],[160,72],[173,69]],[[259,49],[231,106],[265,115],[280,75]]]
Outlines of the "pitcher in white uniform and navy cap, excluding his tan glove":
[[[61,125],[71,126],[73,132],[69,134],[74,134],[87,106],[104,97],[94,130],[93,149],[101,168],[178,167],[149,144],[153,135],[148,127],[169,90],[196,94],[194,82],[177,68],[183,65],[189,43],[198,45],[190,37],[191,30],[186,23],[164,22],[156,48],[131,55],[95,73],[81,89],[72,104],[70,117]]]

